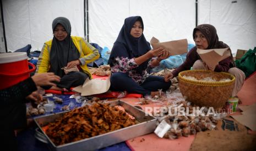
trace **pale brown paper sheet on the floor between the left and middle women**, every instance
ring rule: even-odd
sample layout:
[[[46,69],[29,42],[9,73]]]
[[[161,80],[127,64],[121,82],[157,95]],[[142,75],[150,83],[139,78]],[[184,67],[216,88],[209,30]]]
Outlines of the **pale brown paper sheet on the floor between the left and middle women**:
[[[107,79],[95,78],[89,80],[86,79],[83,86],[79,85],[73,90],[80,92],[81,96],[88,96],[94,94],[102,94],[110,89],[110,77]]]

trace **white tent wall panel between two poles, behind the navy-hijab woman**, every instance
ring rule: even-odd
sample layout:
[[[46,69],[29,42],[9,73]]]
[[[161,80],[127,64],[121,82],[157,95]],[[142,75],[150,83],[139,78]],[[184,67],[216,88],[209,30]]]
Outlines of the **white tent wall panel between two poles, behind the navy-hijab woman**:
[[[161,42],[187,38],[194,43],[195,1],[188,0],[89,1],[90,42],[111,49],[128,16],[141,16],[148,41],[154,36]]]

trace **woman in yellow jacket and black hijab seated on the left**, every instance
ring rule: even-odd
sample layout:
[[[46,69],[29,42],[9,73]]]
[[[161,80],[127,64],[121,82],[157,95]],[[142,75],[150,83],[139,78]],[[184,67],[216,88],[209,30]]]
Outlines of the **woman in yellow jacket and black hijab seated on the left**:
[[[91,78],[87,64],[97,60],[100,55],[84,38],[70,36],[71,25],[67,18],[59,17],[52,22],[53,39],[43,45],[36,73],[53,72],[61,81],[57,86],[44,89],[67,91],[70,87],[81,85]],[[63,68],[74,69],[64,73]]]

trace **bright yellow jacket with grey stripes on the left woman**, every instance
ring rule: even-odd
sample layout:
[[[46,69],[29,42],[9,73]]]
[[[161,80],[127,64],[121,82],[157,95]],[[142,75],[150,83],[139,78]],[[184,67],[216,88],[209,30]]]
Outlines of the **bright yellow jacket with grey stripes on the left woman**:
[[[87,67],[87,64],[99,59],[100,54],[99,51],[92,47],[84,38],[71,36],[75,47],[77,47],[80,53],[80,67],[83,69],[85,73],[87,73],[91,79],[91,73]],[[49,40],[45,44],[43,44],[43,48],[41,50],[41,54],[37,61],[36,65],[36,73],[45,73],[50,69],[50,51],[52,47],[52,40]]]

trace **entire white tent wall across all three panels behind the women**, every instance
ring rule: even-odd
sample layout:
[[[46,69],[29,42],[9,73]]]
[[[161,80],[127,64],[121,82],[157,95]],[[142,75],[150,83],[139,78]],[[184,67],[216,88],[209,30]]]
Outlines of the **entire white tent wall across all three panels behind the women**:
[[[161,42],[192,38],[195,27],[193,0],[88,0],[89,42],[112,48],[128,16],[140,15],[144,21],[144,35]],[[236,2],[236,3],[234,3]],[[8,51],[27,44],[41,50],[52,38],[52,20],[67,17],[72,35],[84,37],[83,0],[3,0],[3,16]],[[213,24],[219,39],[237,49],[256,46],[255,0],[198,0],[198,25]]]

